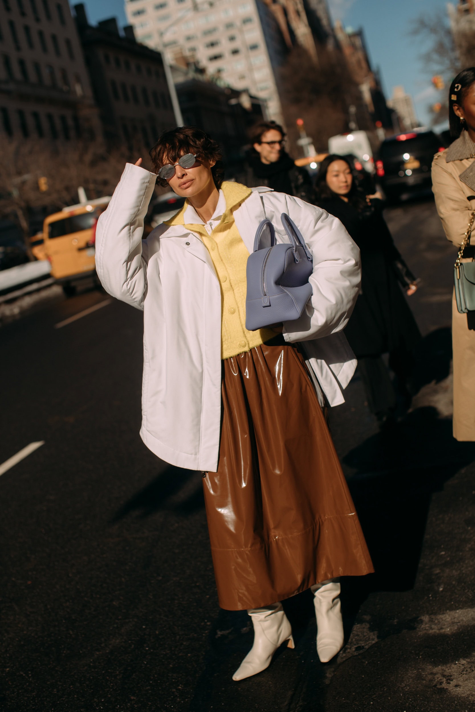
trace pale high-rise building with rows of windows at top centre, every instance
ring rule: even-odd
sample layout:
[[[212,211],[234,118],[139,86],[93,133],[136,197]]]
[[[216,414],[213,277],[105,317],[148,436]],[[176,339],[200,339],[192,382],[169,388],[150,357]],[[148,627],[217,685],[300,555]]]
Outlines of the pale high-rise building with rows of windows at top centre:
[[[266,101],[267,117],[282,120],[278,67],[286,43],[271,2],[127,0],[127,19],[138,41],[160,50],[170,64],[182,58],[237,90]],[[283,16],[285,21],[285,16]]]

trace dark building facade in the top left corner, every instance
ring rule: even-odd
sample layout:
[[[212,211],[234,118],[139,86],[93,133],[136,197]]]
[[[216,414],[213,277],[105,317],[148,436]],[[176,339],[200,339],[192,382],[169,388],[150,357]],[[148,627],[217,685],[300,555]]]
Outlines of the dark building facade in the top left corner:
[[[67,0],[3,0],[0,136],[93,139],[97,110]]]

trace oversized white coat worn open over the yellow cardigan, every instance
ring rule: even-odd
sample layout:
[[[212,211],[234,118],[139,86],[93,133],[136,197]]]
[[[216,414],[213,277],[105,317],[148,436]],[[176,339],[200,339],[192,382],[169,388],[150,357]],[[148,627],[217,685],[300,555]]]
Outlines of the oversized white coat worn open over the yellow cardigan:
[[[142,241],[157,176],[127,163],[96,230],[95,265],[105,290],[144,311],[140,436],[178,467],[216,471],[221,424],[221,290],[208,250],[184,226],[160,225]],[[288,242],[280,216],[301,229],[313,255],[306,313],[284,324],[306,355],[331,405],[343,402],[355,357],[341,330],[360,286],[360,253],[338,219],[268,188],[234,211],[249,252],[265,215]]]

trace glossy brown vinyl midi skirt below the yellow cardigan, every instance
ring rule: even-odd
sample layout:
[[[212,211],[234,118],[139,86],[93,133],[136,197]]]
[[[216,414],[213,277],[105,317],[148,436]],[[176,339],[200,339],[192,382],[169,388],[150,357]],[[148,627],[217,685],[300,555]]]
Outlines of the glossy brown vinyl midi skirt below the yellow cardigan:
[[[229,610],[373,570],[303,357],[275,341],[223,362],[218,471],[203,484],[219,605]]]

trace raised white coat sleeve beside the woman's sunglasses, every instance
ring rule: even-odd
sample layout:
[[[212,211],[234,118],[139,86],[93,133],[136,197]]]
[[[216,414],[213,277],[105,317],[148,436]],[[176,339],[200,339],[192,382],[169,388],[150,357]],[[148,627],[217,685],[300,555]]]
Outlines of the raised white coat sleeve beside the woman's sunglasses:
[[[156,179],[155,173],[127,163],[95,233],[95,268],[101,284],[137,309],[143,309],[147,291],[142,234]]]

